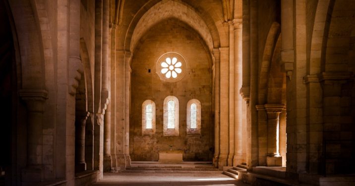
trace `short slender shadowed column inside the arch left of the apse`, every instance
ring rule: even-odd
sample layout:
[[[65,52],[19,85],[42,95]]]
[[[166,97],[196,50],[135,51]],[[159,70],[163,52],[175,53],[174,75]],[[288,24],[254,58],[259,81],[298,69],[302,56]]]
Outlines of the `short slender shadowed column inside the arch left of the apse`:
[[[86,170],[85,163],[85,126],[90,112],[75,114],[75,172]]]

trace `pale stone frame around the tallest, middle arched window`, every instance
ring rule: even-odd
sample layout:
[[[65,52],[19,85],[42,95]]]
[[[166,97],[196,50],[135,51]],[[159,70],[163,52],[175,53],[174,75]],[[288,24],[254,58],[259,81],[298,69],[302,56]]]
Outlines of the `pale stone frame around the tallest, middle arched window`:
[[[175,101],[175,129],[168,129],[168,101]],[[174,95],[169,95],[164,99],[164,120],[163,136],[179,136],[179,102]]]

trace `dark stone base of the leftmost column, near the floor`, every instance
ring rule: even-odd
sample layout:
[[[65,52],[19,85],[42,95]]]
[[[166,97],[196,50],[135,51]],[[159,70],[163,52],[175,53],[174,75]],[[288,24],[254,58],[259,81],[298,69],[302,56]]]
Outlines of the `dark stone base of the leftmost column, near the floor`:
[[[42,182],[44,180],[44,168],[41,165],[28,166],[21,171],[22,182]]]

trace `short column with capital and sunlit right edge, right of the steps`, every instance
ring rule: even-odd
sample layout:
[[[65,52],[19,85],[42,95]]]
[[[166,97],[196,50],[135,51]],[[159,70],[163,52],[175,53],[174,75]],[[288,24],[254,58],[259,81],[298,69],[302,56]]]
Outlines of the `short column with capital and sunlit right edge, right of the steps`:
[[[267,113],[267,166],[282,166],[282,157],[279,152],[279,116],[284,104],[265,104]]]

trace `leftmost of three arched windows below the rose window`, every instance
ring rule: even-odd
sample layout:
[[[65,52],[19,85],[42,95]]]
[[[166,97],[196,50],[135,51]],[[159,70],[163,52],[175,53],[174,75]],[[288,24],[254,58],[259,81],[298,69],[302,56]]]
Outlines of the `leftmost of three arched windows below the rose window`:
[[[145,100],[142,104],[142,135],[155,134],[155,103]]]

